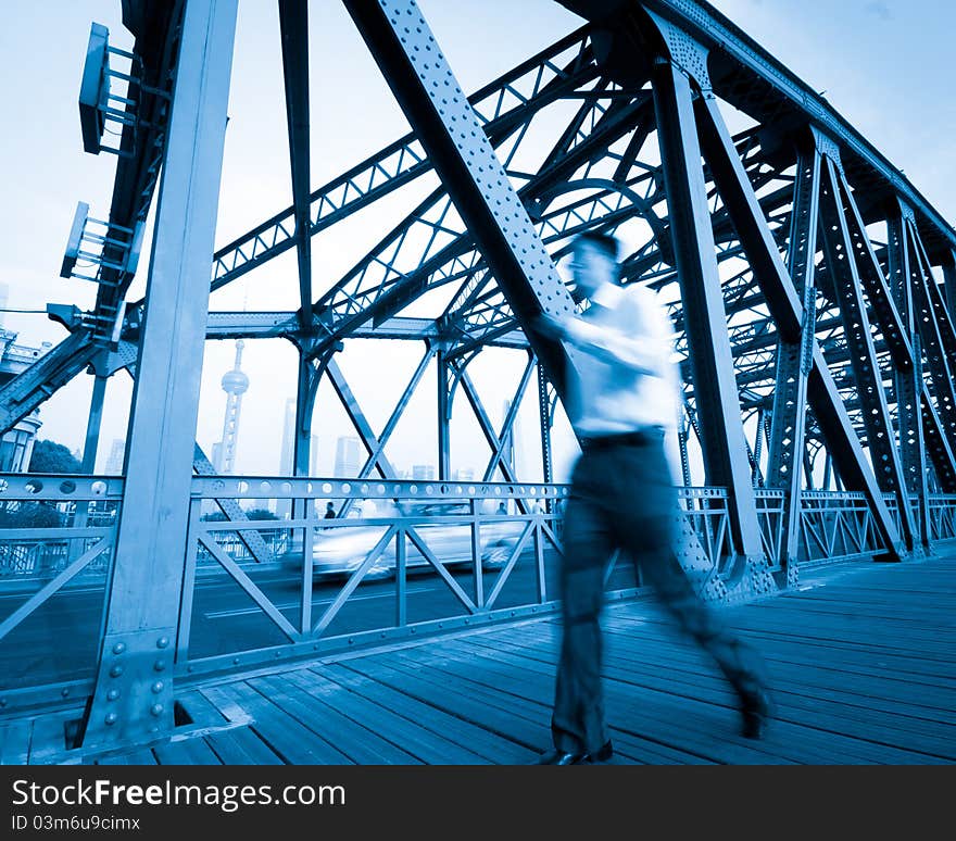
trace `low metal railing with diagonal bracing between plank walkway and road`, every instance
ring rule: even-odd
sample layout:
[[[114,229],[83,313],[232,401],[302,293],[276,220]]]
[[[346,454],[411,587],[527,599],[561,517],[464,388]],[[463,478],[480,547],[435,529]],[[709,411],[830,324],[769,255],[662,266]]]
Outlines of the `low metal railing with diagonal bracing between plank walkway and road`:
[[[193,477],[178,674],[552,612],[567,494],[534,484]],[[764,550],[779,566],[784,497],[755,494]],[[0,476],[0,712],[11,690],[88,689],[122,495],[116,477]],[[725,576],[734,561],[727,490],[678,497],[682,563]],[[216,500],[291,515],[216,519]],[[348,517],[324,517],[327,501],[347,500]],[[956,539],[956,494],[932,495],[929,513],[933,541]],[[860,493],[804,492],[800,529],[801,564],[884,549]],[[256,534],[267,552],[250,551]],[[630,563],[609,565],[606,589],[609,599],[639,591]]]

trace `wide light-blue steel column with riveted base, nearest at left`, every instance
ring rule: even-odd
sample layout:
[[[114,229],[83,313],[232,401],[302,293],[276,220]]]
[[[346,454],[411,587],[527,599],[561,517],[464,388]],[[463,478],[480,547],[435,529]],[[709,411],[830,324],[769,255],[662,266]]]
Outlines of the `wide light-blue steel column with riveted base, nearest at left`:
[[[129,459],[84,748],[168,735],[236,0],[189,0],[156,209]]]

